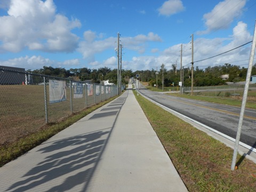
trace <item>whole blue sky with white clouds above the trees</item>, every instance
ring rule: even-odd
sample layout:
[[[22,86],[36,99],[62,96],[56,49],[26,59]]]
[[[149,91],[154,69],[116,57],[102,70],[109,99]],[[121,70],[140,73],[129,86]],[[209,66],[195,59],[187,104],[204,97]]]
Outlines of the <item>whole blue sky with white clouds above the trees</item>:
[[[252,41],[254,0],[1,0],[0,65],[117,68],[117,33],[123,69],[190,67]],[[201,69],[247,67],[251,44],[195,62]]]

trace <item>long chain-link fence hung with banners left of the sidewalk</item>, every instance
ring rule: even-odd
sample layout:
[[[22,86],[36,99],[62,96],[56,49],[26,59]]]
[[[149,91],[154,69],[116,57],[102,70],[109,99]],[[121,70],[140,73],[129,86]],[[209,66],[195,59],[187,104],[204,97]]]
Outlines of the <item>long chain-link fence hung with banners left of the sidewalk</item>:
[[[117,94],[115,85],[0,67],[0,146]]]

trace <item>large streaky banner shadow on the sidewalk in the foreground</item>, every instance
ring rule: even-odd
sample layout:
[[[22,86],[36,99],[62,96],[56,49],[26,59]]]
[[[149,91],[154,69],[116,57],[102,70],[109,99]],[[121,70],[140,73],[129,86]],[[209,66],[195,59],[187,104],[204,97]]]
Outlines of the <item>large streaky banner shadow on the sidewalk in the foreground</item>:
[[[40,149],[39,151],[42,153],[51,155],[42,159],[37,166],[23,175],[22,178],[26,177],[26,179],[15,182],[9,187],[9,190],[18,192],[31,190],[44,183],[51,185],[51,182],[61,180],[63,175],[66,176],[65,181],[59,185],[52,185],[54,187],[49,190],[43,190],[66,191],[77,185],[87,185],[110,132],[95,131],[76,135],[55,141],[52,145]]]

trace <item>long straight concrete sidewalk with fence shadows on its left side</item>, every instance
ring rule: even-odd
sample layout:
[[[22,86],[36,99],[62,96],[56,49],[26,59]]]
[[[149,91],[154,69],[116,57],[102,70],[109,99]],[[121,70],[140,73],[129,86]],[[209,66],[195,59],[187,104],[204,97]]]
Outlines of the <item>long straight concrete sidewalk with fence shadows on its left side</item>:
[[[0,175],[0,191],[187,191],[131,90]]]

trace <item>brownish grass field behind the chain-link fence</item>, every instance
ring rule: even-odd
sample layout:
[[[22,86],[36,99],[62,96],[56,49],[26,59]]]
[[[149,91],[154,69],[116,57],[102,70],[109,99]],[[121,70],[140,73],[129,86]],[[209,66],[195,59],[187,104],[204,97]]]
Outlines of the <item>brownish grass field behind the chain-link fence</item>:
[[[49,85],[46,86],[49,98]],[[94,105],[94,97],[73,98],[73,113]],[[101,98],[102,97],[102,98]],[[109,95],[96,96],[96,102],[109,98]],[[86,105],[87,102],[87,105]],[[67,100],[58,103],[47,103],[49,123],[61,121],[71,115],[70,89],[67,89]],[[45,121],[45,98],[43,85],[0,85],[0,148],[8,143],[40,130]]]

